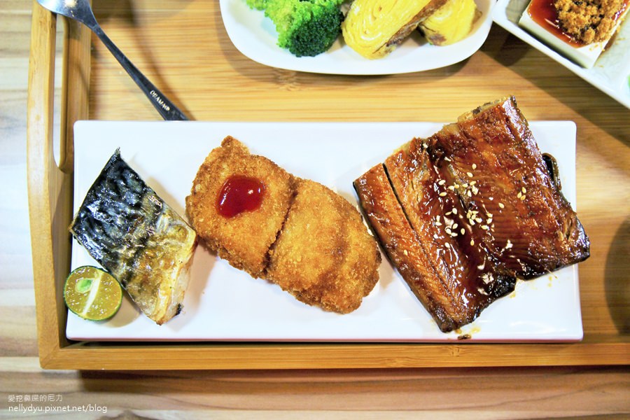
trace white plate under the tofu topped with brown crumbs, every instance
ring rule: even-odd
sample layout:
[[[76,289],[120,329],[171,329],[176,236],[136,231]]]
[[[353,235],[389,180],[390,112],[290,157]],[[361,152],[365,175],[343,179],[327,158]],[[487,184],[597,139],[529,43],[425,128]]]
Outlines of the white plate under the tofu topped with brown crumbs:
[[[622,24],[615,42],[602,53],[595,65],[591,69],[584,69],[519,27],[519,19],[529,1],[498,0],[492,12],[492,19],[507,31],[624,104],[626,108],[630,108],[630,25],[628,22]]]

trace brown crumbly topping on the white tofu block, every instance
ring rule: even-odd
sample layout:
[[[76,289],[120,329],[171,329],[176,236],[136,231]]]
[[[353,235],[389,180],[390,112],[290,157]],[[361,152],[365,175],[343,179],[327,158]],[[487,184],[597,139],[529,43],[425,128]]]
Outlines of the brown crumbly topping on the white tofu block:
[[[608,39],[624,0],[554,0],[558,20],[566,34],[584,44]]]

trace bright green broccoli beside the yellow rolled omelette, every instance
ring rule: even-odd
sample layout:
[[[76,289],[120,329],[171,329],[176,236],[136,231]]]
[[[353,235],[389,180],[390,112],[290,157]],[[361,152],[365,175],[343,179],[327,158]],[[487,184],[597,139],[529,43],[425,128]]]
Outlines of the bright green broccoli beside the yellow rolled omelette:
[[[274,22],[278,45],[297,57],[325,52],[341,33],[345,0],[247,0],[264,3],[265,15]]]

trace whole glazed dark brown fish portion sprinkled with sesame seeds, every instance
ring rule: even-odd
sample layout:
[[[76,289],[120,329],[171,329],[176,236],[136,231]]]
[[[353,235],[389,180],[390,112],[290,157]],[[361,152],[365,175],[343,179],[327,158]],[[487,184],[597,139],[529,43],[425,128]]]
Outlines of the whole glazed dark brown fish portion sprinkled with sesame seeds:
[[[354,183],[389,258],[448,332],[531,279],[589,256],[514,98],[413,139]]]

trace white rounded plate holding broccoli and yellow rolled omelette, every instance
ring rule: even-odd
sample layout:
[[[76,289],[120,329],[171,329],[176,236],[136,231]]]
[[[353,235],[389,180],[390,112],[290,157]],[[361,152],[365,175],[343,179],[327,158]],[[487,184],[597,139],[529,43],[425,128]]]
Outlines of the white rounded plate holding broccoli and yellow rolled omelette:
[[[279,69],[332,74],[395,74],[425,71],[449,66],[474,54],[486,41],[492,25],[491,7],[495,0],[476,0],[482,16],[472,33],[453,45],[430,45],[414,31],[390,55],[366,59],[343,42],[343,37],[330,50],[316,57],[295,57],[277,43],[274,24],[265,13],[250,9],[245,0],[221,0],[221,16],[225,30],[236,48],[255,62]]]

